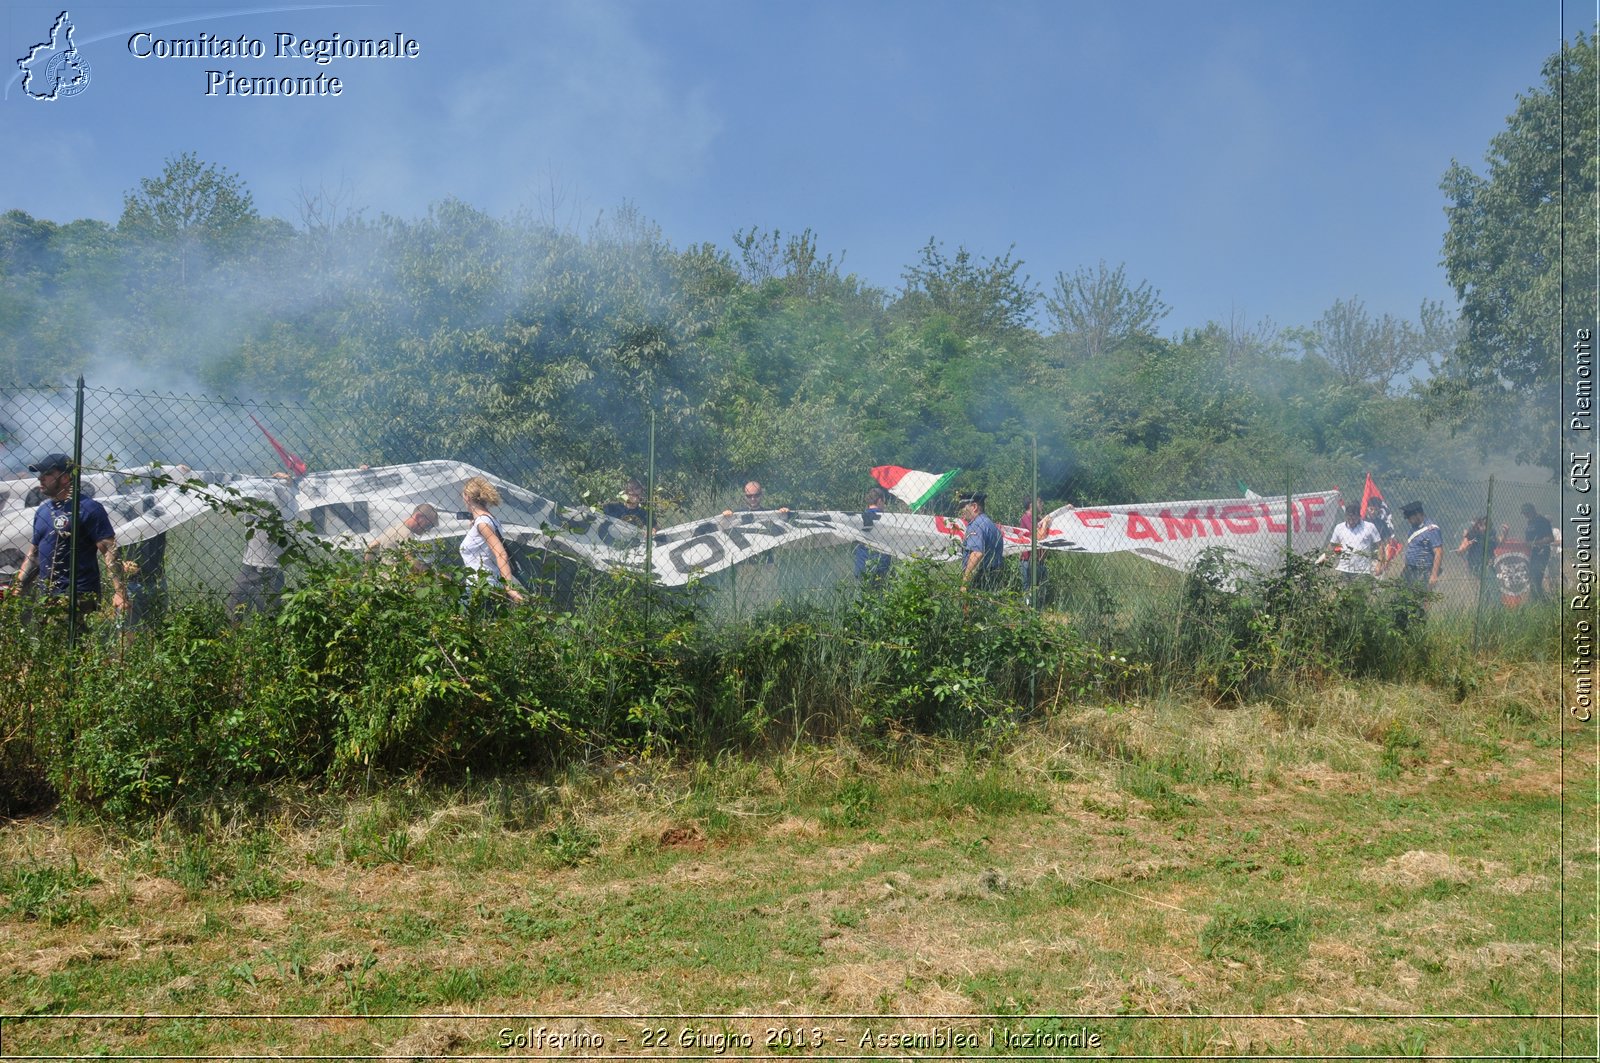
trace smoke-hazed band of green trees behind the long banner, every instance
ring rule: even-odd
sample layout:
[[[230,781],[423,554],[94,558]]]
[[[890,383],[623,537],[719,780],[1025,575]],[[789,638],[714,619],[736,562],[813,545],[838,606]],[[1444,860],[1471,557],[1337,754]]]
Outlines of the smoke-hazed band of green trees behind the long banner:
[[[1414,395],[1384,391],[1448,331],[1434,306],[1163,339],[1158,293],[1101,263],[1056,279],[1042,335],[1011,250],[930,240],[891,293],[810,229],[680,250],[627,205],[579,231],[459,200],[370,218],[336,192],[302,195],[299,223],[192,155],[115,227],[0,216],[0,378],[310,400],[358,421],[371,464],[454,458],[565,499],[642,475],[651,416],[670,496],[760,479],[843,507],[875,464],[958,466],[1002,519],[1035,448],[1042,495],[1080,504],[1458,463]],[[1310,335],[1296,357],[1288,338]],[[134,373],[106,381],[107,352]]]

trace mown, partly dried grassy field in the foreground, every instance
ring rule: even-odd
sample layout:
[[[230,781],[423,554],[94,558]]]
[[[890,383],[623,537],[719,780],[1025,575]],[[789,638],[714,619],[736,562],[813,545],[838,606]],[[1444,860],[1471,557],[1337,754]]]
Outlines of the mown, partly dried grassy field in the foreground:
[[[1592,1058],[1557,682],[13,821],[0,1058]]]

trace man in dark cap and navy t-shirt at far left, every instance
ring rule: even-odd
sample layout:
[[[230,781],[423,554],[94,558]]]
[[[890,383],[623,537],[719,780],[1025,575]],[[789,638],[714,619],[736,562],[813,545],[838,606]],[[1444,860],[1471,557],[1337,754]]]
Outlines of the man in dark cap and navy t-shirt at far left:
[[[16,592],[26,594],[40,575],[50,599],[66,599],[75,586],[82,620],[99,607],[99,557],[104,557],[114,589],[112,605],[117,612],[128,608],[122,565],[117,564],[117,533],[112,532],[106,507],[93,498],[80,496],[74,520],[72,459],[66,455],[45,455],[27,471],[38,474],[43,501],[34,512],[34,541],[16,573]]]

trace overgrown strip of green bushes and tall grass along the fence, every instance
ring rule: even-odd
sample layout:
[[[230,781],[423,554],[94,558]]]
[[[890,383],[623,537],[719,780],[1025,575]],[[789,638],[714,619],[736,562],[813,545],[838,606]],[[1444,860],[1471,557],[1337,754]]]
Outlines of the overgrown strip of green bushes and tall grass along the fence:
[[[963,594],[947,565],[898,565],[829,600],[715,620],[696,594],[597,576],[568,602],[464,602],[458,580],[403,565],[309,564],[277,612],[176,604],[131,634],[0,645],[0,810],[59,797],[115,820],[274,780],[544,770],[667,751],[715,756],[806,738],[1005,738],[1082,701],[1202,693],[1245,701],[1331,676],[1466,692],[1483,668],[1462,631],[1406,588],[1341,584],[1307,562],[1248,576],[1208,557],[1181,589],[1117,613],[1035,612]],[[1506,621],[1507,624],[1510,621]],[[1531,652],[1549,645],[1502,632]]]

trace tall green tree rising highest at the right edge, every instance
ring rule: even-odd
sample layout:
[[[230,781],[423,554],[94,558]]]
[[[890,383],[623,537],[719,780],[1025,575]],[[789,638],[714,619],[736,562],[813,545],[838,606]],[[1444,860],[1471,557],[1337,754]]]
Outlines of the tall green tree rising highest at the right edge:
[[[1432,399],[1482,426],[1485,448],[1555,469],[1562,352],[1594,328],[1597,38],[1579,34],[1542,75],[1490,141],[1486,173],[1453,162],[1442,181],[1467,331]]]

